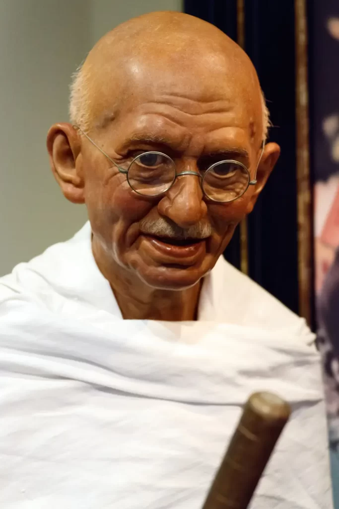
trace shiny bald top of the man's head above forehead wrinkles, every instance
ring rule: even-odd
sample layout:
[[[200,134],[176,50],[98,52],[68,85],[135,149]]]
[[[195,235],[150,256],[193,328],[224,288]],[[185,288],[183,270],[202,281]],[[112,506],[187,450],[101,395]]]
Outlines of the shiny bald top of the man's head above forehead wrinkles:
[[[90,51],[74,75],[70,116],[83,130],[117,118],[146,94],[212,102],[227,90],[266,137],[268,111],[245,52],[215,26],[177,12],[154,12],[122,23]]]

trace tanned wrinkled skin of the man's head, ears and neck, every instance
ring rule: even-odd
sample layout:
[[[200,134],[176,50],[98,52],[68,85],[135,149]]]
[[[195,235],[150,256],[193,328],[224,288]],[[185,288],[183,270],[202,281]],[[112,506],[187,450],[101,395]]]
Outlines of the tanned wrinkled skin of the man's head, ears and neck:
[[[214,26],[172,12],[132,19],[97,43],[82,72],[86,132],[120,166],[155,150],[173,158],[177,173],[236,159],[254,178],[263,132],[259,81],[248,56]],[[202,277],[252,211],[280,152],[267,144],[256,186],[220,204],[187,175],[160,197],[138,195],[71,124],[53,125],[47,147],[67,199],[86,204],[94,256],[122,315],[158,320],[196,317]],[[168,231],[173,239],[159,243]],[[198,244],[173,246],[206,232]]]

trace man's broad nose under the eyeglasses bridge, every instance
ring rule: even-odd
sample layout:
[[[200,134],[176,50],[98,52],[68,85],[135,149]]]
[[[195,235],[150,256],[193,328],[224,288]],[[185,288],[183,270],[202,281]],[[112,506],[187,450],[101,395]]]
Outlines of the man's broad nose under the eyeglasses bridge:
[[[198,175],[181,175],[158,204],[159,214],[181,228],[189,228],[207,215]]]

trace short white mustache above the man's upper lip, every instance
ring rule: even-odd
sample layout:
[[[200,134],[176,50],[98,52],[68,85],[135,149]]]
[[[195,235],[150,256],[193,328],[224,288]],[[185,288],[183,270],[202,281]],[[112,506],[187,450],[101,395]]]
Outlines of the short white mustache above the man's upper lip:
[[[143,219],[139,223],[142,233],[156,235],[158,237],[169,237],[177,240],[206,239],[212,235],[212,227],[206,221],[199,221],[189,228],[181,228],[177,224],[162,217],[156,221]]]

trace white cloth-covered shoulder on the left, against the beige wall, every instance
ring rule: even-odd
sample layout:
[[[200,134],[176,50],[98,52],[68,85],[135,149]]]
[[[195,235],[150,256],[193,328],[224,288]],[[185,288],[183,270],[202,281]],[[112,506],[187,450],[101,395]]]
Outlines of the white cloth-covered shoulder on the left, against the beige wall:
[[[95,262],[89,222],[70,240],[52,245],[0,278],[0,314],[19,301],[57,315],[74,316],[75,306],[81,312],[89,306],[121,316],[109,282]]]

